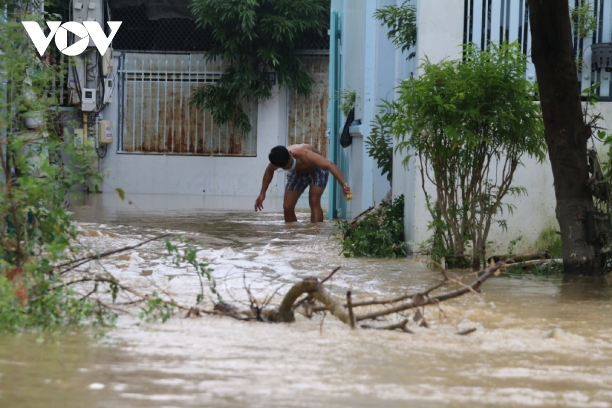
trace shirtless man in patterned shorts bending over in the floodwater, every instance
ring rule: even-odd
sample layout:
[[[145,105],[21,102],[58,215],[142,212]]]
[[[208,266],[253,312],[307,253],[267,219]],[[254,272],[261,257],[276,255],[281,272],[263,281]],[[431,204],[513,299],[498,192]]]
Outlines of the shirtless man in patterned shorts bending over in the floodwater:
[[[351,193],[351,188],[346,184],[346,180],[340,169],[334,163],[321,155],[319,150],[310,144],[293,144],[292,146],[277,146],[270,150],[268,155],[270,164],[264,172],[264,180],[261,184],[261,193],[255,200],[255,212],[263,210],[263,202],[266,198],[266,191],[274,172],[278,168],[288,171],[287,184],[285,185],[285,199],[283,201],[283,211],[285,222],[297,221],[296,204],[306,187],[310,185],[308,191],[308,203],[310,204],[310,222],[318,223],[323,221],[323,209],[321,209],[321,196],[327,185],[329,172],[338,180],[342,186],[345,196]]]

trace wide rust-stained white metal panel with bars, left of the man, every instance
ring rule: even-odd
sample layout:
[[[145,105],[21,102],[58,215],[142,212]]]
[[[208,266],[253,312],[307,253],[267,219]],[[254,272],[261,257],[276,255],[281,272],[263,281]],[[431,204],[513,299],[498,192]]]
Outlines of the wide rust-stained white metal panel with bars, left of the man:
[[[119,152],[255,156],[257,102],[245,103],[252,130],[219,126],[209,112],[189,106],[193,89],[214,83],[222,62],[204,54],[126,53],[122,57]]]

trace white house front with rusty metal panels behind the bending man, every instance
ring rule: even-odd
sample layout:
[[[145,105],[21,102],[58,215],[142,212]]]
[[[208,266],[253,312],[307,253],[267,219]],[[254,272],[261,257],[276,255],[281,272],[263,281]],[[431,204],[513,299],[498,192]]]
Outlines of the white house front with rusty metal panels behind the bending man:
[[[252,131],[243,135],[188,103],[193,89],[214,83],[226,69],[223,61],[205,61],[214,39],[196,26],[190,4],[108,0],[100,13],[87,15],[73,7],[75,21],[89,14],[122,21],[112,50],[101,58],[83,54],[69,78],[70,103],[85,115],[86,133],[98,147],[104,204],[128,206],[115,192],[121,188],[141,208],[253,209],[272,147],[309,143],[327,155],[327,37],[313,37],[299,51],[315,80],[311,97],[286,91],[271,72],[273,97],[245,103]],[[85,88],[98,95],[91,110],[79,97]],[[110,125],[112,139],[100,124]],[[285,173],[278,172],[267,211],[282,211],[284,186]],[[298,209],[307,208],[305,195]]]

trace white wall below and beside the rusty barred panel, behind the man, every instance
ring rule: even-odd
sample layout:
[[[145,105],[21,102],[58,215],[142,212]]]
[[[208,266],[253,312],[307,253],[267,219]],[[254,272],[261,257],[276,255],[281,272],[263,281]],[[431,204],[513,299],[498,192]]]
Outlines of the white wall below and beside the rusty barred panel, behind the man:
[[[118,65],[115,59],[114,74]],[[114,92],[113,102],[103,111],[103,119],[113,121],[114,133],[118,135],[119,92]],[[253,209],[269,163],[267,155],[272,147],[286,143],[285,91],[275,86],[273,94],[271,100],[258,107],[256,157],[118,154],[116,138],[102,161],[106,174],[104,200],[115,201],[114,189],[119,187],[128,196],[173,195],[176,208],[231,205],[233,209]],[[264,201],[265,210],[282,210],[284,190],[284,172],[275,173]],[[144,200],[145,196],[140,197]],[[167,201],[166,198],[149,199]]]

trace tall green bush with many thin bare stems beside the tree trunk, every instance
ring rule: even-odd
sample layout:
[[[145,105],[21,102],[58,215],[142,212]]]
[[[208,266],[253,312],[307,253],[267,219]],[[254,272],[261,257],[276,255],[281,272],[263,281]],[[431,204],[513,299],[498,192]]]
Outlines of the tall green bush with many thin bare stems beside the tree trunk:
[[[419,160],[436,254],[463,258],[471,247],[478,267],[491,226],[505,229],[498,216],[513,210],[504,198],[526,193],[513,185],[521,158],[544,160],[546,145],[520,46],[491,43],[482,51],[471,44],[464,56],[425,61],[419,77],[403,81],[397,100],[386,102],[383,122],[397,149]]]

